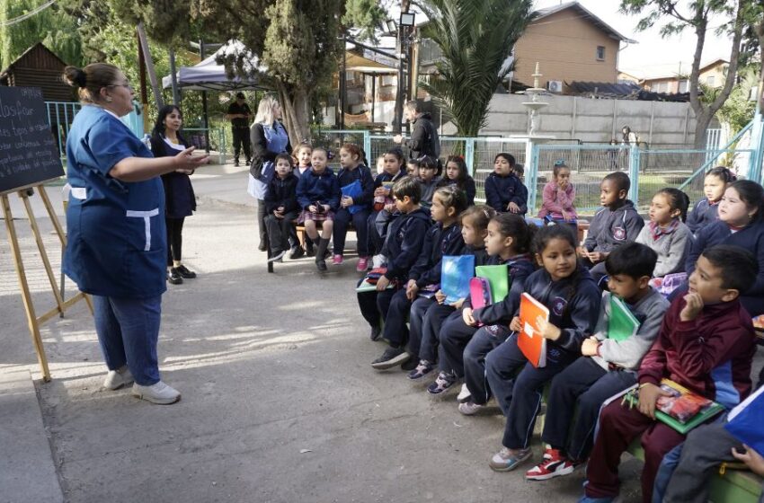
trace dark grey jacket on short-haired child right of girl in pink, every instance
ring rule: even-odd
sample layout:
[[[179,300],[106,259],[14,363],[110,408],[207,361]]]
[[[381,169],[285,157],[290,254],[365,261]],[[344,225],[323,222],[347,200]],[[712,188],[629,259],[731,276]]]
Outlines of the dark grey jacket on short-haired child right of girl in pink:
[[[583,247],[589,252],[612,252],[623,243],[635,241],[642,227],[644,219],[636,212],[633,202],[627,200],[615,210],[603,207],[591,219]]]

